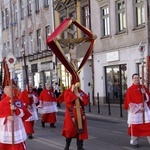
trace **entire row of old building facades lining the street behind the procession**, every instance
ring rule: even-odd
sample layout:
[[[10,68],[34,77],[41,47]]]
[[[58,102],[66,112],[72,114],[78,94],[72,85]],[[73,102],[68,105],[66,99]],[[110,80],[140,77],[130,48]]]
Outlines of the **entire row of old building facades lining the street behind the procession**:
[[[93,103],[98,97],[101,103],[122,104],[133,73],[142,77],[144,66],[144,77],[149,79],[146,59],[150,54],[149,3],[149,0],[2,0],[3,56],[13,51],[17,57],[15,77],[20,88],[26,83],[21,52],[26,56],[29,80],[34,86],[59,82],[62,90],[68,88],[70,74],[47,47],[46,39],[65,18],[73,18],[97,36],[93,53],[80,73],[81,88],[90,94]],[[80,35],[81,31],[70,26],[60,37]],[[79,52],[85,49],[86,45],[78,46]],[[82,58],[81,54],[80,61]]]

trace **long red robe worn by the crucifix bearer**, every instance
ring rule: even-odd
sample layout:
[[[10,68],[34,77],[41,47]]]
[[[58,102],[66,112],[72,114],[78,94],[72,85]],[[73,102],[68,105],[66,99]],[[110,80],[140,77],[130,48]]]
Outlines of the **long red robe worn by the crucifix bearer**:
[[[82,90],[79,90],[79,93],[80,96],[82,97],[82,101],[80,100],[80,111],[83,120],[83,132],[79,133],[79,140],[84,140],[88,139],[86,116],[84,115],[84,106],[88,104],[88,95],[86,95]],[[65,136],[66,138],[75,138],[77,136],[78,131],[77,127],[75,126],[72,120],[70,110],[72,110],[73,117],[77,121],[75,100],[78,97],[70,89],[66,90],[63,94],[64,94],[64,101],[66,104],[66,113],[64,118],[64,127],[62,130],[62,135]]]

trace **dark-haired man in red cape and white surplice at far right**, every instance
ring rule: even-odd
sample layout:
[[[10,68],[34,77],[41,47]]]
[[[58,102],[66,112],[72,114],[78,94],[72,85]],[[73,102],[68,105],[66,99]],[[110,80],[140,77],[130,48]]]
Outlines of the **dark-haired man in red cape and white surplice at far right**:
[[[133,84],[127,89],[125,95],[124,108],[128,110],[127,123],[128,134],[131,136],[130,144],[139,147],[139,137],[141,136],[147,137],[150,144],[150,93],[145,86],[140,84],[137,73],[132,75],[132,80]]]

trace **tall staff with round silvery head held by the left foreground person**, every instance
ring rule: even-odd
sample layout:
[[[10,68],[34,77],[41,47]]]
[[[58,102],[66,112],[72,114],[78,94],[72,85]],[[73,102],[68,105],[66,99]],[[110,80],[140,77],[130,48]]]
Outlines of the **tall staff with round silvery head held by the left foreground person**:
[[[14,72],[14,65],[16,63],[16,58],[12,53],[9,53],[6,57],[6,62],[10,72],[10,86],[11,86],[11,106],[14,105],[13,101],[13,72]],[[14,111],[11,109],[11,116],[14,116]],[[12,120],[12,144],[14,144],[14,120]]]

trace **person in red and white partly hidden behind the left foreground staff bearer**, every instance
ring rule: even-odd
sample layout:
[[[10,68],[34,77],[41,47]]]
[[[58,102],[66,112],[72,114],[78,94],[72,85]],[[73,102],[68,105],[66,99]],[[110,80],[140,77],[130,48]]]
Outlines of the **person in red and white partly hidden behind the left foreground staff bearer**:
[[[29,139],[33,139],[34,122],[38,120],[36,104],[38,98],[33,91],[32,84],[26,85],[26,89],[19,95],[19,99],[23,102],[24,106],[31,113],[31,117],[24,121],[24,126]],[[28,89],[29,88],[29,89]]]

